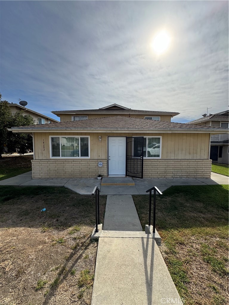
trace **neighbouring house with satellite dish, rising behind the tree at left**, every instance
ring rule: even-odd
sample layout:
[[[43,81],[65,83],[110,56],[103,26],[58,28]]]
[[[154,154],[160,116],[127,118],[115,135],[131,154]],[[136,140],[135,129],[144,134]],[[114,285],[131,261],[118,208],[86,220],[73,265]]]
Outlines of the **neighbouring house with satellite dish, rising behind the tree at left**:
[[[22,110],[25,114],[30,114],[33,117],[35,124],[49,124],[49,123],[58,123],[59,121],[52,119],[51,117],[47,117],[44,114],[36,112],[34,110],[28,109],[24,106],[9,103],[10,110],[14,114],[16,111]]]

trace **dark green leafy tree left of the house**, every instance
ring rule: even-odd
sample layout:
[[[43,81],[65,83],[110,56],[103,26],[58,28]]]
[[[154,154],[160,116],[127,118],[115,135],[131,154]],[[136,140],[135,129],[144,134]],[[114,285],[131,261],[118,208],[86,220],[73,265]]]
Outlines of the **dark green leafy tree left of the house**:
[[[4,152],[4,147],[7,147],[8,152],[26,153],[33,149],[33,138],[29,134],[13,133],[7,128],[15,126],[27,126],[35,124],[33,117],[29,114],[24,114],[23,111],[17,111],[12,114],[9,103],[2,101],[0,93],[0,158]]]

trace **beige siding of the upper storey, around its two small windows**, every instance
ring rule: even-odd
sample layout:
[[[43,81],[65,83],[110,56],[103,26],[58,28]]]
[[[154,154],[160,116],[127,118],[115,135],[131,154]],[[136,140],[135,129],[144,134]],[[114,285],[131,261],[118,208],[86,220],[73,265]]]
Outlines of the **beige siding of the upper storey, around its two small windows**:
[[[117,114],[117,113],[104,113],[104,114],[101,114],[101,113],[82,113],[82,114],[60,114],[60,122],[70,122],[71,121],[71,117],[75,115],[75,116],[85,116],[87,115],[88,116],[88,119],[98,119],[98,118],[101,118],[101,117],[114,117],[114,116],[121,116],[121,117],[129,117],[129,114]],[[131,113],[130,114],[131,117],[135,117],[137,119],[144,119],[145,116],[147,116],[147,114],[134,114],[134,113]],[[167,114],[163,114],[163,115],[150,115],[148,114],[148,116],[155,116],[155,117],[160,117],[160,120],[161,121],[164,121],[164,122],[171,122],[171,115]]]

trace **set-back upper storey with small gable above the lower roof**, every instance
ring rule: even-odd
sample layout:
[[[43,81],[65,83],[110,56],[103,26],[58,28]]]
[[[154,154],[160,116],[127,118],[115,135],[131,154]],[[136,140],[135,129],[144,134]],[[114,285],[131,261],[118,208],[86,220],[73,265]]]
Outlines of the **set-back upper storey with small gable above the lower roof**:
[[[122,117],[134,117],[137,119],[171,122],[171,118],[179,114],[179,112],[136,110],[118,104],[108,105],[99,109],[52,111],[52,113],[56,114],[57,117],[60,117],[60,122],[98,119],[117,115]]]

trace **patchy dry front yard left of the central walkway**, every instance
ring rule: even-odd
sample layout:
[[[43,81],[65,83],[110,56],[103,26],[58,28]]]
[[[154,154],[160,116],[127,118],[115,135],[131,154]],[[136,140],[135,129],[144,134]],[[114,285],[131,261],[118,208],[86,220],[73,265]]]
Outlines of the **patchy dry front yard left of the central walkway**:
[[[0,304],[90,304],[94,197],[62,187],[8,186],[0,196]],[[105,203],[100,196],[101,221]]]

